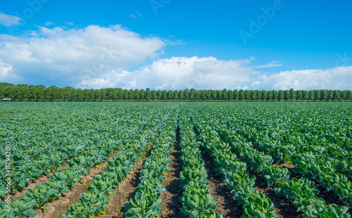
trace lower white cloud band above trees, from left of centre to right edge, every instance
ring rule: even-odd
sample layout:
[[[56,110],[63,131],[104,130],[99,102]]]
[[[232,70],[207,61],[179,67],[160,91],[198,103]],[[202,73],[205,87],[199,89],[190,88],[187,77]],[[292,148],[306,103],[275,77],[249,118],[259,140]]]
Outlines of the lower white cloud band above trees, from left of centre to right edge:
[[[101,77],[90,77],[79,86],[122,89],[352,89],[352,66],[263,74],[256,69],[272,68],[278,64],[273,61],[265,65],[252,65],[253,60],[165,58],[134,72],[115,70]]]

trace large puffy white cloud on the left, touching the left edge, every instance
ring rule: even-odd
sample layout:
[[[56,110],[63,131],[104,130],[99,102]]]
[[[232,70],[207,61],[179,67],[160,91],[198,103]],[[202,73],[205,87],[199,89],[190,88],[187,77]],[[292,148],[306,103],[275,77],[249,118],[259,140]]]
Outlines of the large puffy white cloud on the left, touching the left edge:
[[[30,84],[80,84],[87,77],[142,63],[163,53],[165,43],[115,25],[80,30],[40,27],[36,35],[0,35],[0,59]],[[31,78],[39,78],[35,81]],[[42,80],[40,80],[42,79]]]

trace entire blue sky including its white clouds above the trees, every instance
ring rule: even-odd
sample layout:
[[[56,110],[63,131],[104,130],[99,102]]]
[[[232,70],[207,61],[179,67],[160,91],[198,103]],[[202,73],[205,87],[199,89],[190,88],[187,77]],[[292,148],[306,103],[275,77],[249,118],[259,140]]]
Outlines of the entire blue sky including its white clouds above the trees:
[[[352,89],[351,8],[350,1],[1,1],[0,81]],[[106,49],[113,54],[102,61]]]

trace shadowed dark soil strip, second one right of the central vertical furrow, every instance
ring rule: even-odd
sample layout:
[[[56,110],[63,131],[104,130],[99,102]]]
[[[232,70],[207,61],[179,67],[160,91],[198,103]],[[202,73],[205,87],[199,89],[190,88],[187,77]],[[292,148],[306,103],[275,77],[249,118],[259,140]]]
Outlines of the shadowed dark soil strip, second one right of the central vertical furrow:
[[[277,215],[278,218],[282,217],[301,217],[302,212],[296,212],[297,208],[294,206],[293,203],[291,203],[289,200],[286,198],[277,198],[277,195],[275,193],[275,186],[268,186],[268,182],[265,181],[263,177],[258,177],[257,174],[254,174],[251,172],[249,174],[250,177],[253,175],[256,176],[256,183],[254,184],[254,188],[256,188],[257,191],[260,193],[263,193],[272,200],[272,203],[274,203],[274,210],[275,214]]]

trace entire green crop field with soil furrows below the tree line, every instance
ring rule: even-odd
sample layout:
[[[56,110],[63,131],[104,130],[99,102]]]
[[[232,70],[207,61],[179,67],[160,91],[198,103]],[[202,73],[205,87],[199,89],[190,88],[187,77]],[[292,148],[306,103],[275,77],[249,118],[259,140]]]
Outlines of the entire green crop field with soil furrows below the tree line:
[[[0,103],[0,218],[351,217],[352,103]]]

